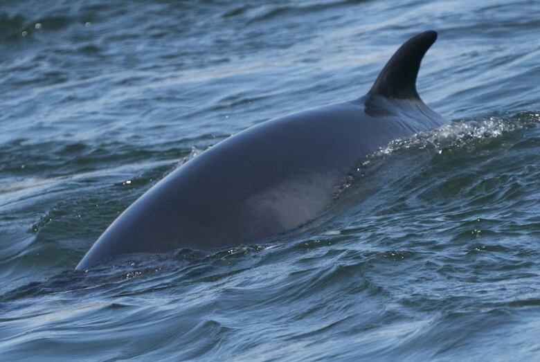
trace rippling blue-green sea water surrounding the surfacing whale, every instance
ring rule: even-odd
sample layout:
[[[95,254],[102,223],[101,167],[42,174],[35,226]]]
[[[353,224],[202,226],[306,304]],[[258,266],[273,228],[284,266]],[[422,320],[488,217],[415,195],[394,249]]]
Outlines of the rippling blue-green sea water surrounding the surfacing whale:
[[[0,360],[540,359],[537,1],[2,1]],[[451,122],[270,244],[75,272],[183,159],[433,28]]]

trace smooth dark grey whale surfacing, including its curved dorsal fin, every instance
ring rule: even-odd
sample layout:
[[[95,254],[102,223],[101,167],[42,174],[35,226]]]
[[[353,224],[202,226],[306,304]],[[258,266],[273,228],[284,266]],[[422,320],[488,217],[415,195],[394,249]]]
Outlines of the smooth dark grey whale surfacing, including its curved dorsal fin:
[[[128,253],[254,244],[321,215],[366,154],[445,123],[415,87],[436,38],[409,39],[366,96],[269,120],[188,161],[129,206],[76,269]]]

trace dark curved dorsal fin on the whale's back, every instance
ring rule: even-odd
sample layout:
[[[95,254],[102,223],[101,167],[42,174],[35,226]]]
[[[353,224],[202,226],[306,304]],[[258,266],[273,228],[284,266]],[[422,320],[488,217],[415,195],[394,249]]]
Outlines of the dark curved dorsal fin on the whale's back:
[[[437,32],[429,30],[408,39],[390,58],[368,94],[387,98],[420,99],[416,91],[416,77],[420,62],[437,39]]]

